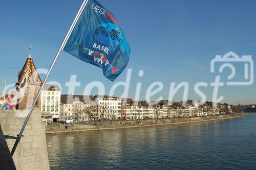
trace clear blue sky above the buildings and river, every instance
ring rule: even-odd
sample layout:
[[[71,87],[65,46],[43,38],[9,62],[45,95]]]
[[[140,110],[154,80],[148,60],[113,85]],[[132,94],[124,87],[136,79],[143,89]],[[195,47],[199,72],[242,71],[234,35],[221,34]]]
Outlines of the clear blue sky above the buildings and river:
[[[189,98],[199,100],[195,83],[207,82],[200,89],[211,100],[216,74],[210,73],[210,60],[215,55],[233,51],[239,55],[256,56],[256,1],[120,1],[99,0],[114,13],[130,43],[131,55],[127,68],[133,68],[130,97],[134,98],[137,82],[142,82],[141,96],[147,87],[161,81],[164,89],[154,96],[167,98],[170,82],[189,83]],[[49,68],[82,1],[3,1],[0,6],[0,79],[8,84],[17,81],[18,71],[32,46],[37,68]],[[238,66],[242,69],[242,65]],[[139,78],[138,71],[144,70]],[[126,69],[127,70],[127,69]],[[115,81],[125,81],[126,70]],[[62,85],[70,75],[77,74],[81,94],[91,81],[101,81],[106,92],[115,83],[104,78],[98,67],[84,63],[62,52],[49,78]],[[228,71],[224,75],[228,75]],[[254,71],[256,75],[256,71]],[[241,76],[241,75],[238,75]],[[41,75],[44,78],[44,75]],[[255,79],[255,76],[254,76]],[[256,79],[255,79],[256,81]],[[3,83],[0,84],[3,89]],[[220,87],[223,102],[256,103],[255,83],[251,86]],[[116,95],[122,93],[122,88]],[[153,98],[153,99],[154,99]],[[175,99],[181,99],[181,92]]]

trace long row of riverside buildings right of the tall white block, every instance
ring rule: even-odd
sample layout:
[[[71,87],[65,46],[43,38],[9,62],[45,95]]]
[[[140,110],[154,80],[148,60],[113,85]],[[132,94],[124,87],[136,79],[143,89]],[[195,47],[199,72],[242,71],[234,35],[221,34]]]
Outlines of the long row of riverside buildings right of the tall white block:
[[[69,102],[67,102],[68,98],[71,99]],[[241,111],[241,108],[233,105],[212,102],[205,102],[200,105],[193,100],[186,102],[137,102],[132,99],[120,99],[107,95],[61,95],[59,120],[179,118],[232,114]]]

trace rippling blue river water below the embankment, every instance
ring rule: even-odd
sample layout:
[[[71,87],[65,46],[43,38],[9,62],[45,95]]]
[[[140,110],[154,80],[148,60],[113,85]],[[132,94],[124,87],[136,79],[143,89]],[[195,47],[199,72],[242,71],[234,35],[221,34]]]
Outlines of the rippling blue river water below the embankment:
[[[256,169],[256,113],[46,137],[51,169]]]

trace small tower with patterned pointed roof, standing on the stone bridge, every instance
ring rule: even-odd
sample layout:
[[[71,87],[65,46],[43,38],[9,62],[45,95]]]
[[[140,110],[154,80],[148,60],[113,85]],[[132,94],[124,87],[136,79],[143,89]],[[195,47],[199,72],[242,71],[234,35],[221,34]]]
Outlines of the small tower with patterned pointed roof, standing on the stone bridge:
[[[37,92],[39,91],[39,88],[42,84],[41,78],[36,70],[34,61],[31,57],[31,47],[29,47],[29,56],[22,68],[22,70],[18,74],[18,82],[22,82],[24,78],[27,78],[28,82],[28,89],[26,91],[26,95],[19,99],[17,109],[24,110],[24,109],[30,109],[32,107],[32,104],[34,102],[35,96]],[[37,100],[36,106],[40,107],[41,101],[40,97]]]

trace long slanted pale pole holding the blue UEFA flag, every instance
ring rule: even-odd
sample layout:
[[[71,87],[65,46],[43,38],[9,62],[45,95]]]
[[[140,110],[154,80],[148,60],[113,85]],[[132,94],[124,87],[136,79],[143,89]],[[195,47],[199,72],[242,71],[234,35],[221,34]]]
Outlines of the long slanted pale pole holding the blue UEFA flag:
[[[22,137],[23,131],[24,131],[24,129],[25,129],[27,123],[28,123],[29,117],[31,116],[31,113],[32,113],[32,111],[33,111],[33,109],[34,109],[34,107],[35,107],[36,101],[37,101],[38,98],[39,98],[39,95],[40,95],[40,93],[41,93],[41,91],[42,91],[42,88],[43,88],[44,85],[46,84],[46,81],[47,81],[47,79],[48,79],[48,77],[49,77],[49,75],[50,75],[50,72],[52,71],[52,68],[53,68],[53,66],[54,66],[54,64],[55,64],[55,62],[56,62],[56,60],[57,60],[57,58],[58,58],[60,52],[61,52],[61,51],[63,50],[63,48],[65,47],[65,45],[66,45],[66,43],[67,43],[67,41],[68,41],[68,39],[69,39],[69,37],[70,37],[70,34],[71,34],[71,32],[73,31],[73,29],[74,29],[74,27],[75,27],[75,25],[76,25],[76,22],[78,21],[78,18],[80,17],[80,15],[81,15],[81,13],[82,13],[84,7],[86,7],[88,1],[89,1],[89,0],[84,0],[84,1],[83,1],[83,3],[82,3],[82,5],[81,5],[81,7],[80,7],[78,13],[76,14],[75,19],[74,19],[73,22],[72,22],[71,27],[69,28],[69,31],[68,31],[67,35],[65,36],[63,42],[61,43],[61,45],[60,45],[60,47],[59,47],[59,50],[58,50],[58,52],[57,52],[57,54],[56,54],[56,56],[55,56],[55,58],[54,58],[54,60],[53,60],[53,62],[52,62],[52,64],[51,64],[51,66],[50,66],[50,68],[49,68],[47,74],[46,74],[45,80],[44,80],[44,82],[42,82],[42,85],[41,85],[39,91],[38,91],[37,94],[36,94],[35,100],[34,100],[34,102],[33,102],[33,104],[32,104],[32,107],[31,107],[30,110],[29,110],[29,113],[28,113],[28,115],[27,115],[27,117],[26,117],[26,119],[25,119],[25,122],[24,122],[24,124],[23,124],[23,126],[22,126],[22,129],[20,130],[19,134],[17,135],[16,141],[15,141],[15,143],[14,143],[14,145],[13,145],[13,148],[12,148],[12,151],[11,151],[11,155],[12,155],[12,156],[13,156],[13,154],[14,154],[16,148],[17,148],[17,145],[18,145],[18,142],[19,142],[20,138]]]

